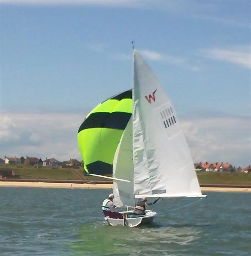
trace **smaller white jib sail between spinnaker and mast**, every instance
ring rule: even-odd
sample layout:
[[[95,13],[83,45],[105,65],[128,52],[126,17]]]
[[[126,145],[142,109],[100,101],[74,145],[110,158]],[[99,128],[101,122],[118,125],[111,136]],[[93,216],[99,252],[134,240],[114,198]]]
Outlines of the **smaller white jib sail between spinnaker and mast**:
[[[132,117],[125,127],[113,160],[113,177],[129,180],[113,181],[114,204],[117,207],[134,206],[132,156]]]

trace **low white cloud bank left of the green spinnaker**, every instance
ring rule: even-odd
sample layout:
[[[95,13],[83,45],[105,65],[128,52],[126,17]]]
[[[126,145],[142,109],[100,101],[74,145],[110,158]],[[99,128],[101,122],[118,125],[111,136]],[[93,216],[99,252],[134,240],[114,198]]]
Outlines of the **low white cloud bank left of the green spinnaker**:
[[[1,113],[1,157],[81,159],[77,131],[86,114]]]

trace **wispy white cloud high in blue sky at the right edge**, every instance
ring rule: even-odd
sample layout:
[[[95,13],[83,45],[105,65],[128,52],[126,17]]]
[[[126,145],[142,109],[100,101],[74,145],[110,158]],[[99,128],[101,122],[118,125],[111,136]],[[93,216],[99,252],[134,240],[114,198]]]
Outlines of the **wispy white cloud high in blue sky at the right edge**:
[[[251,69],[251,52],[250,47],[241,47],[240,49],[222,49],[212,48],[202,50],[201,53],[206,58],[225,61],[237,64],[241,67]]]

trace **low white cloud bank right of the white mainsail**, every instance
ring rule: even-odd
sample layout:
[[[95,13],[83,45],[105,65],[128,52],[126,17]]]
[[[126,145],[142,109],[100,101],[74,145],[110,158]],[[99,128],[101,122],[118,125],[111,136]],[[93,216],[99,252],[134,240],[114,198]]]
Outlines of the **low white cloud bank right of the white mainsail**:
[[[182,128],[195,162],[229,162],[238,166],[250,164],[250,118],[185,118]]]

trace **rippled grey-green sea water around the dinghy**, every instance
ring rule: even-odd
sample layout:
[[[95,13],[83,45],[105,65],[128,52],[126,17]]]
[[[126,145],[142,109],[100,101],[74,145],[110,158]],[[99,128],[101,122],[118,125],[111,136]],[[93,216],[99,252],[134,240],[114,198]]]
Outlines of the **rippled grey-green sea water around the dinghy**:
[[[129,228],[104,221],[110,192],[1,187],[0,255],[251,255],[250,193],[159,200],[153,225]]]

